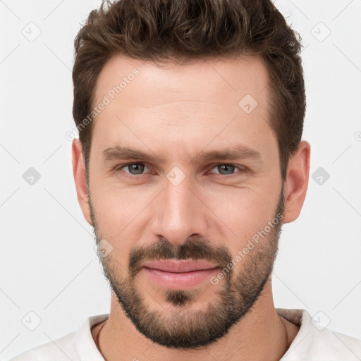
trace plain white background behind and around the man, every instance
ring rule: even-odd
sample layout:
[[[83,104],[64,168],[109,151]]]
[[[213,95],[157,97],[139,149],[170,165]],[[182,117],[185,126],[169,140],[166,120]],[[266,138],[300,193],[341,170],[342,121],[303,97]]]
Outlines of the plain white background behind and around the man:
[[[99,4],[0,1],[4,360],[109,312],[110,290],[76,199],[65,137],[74,128],[73,39]],[[322,311],[321,323],[361,339],[361,1],[280,0],[276,6],[305,46],[302,138],[312,145],[302,214],[283,226],[274,269],[276,307],[302,308],[312,316]],[[23,35],[40,30],[32,42]],[[23,179],[31,166],[41,176],[34,185]],[[319,167],[330,175],[322,185],[312,179]],[[34,331],[22,323],[28,312],[41,319]]]

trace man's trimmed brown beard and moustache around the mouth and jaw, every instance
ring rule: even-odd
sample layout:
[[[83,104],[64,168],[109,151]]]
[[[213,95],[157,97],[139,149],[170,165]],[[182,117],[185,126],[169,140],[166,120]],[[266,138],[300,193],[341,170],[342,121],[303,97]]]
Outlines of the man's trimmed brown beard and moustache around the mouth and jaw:
[[[128,269],[113,257],[114,252],[107,257],[99,257],[111,290],[137,331],[159,345],[183,350],[201,348],[225,336],[252,310],[269,281],[278,252],[282,226],[279,216],[283,214],[284,202],[282,190],[274,213],[274,219],[277,218],[279,222],[269,227],[269,233],[247,255],[243,255],[237,274],[233,267],[229,267],[235,257],[225,246],[214,247],[209,240],[195,236],[190,236],[182,245],[174,245],[161,238],[152,245],[133,247],[128,257]],[[98,244],[102,236],[90,198],[89,204]],[[227,271],[223,272],[224,278],[216,285],[211,282],[214,296],[207,304],[203,303],[201,309],[192,309],[192,304],[205,290],[195,287],[188,290],[159,290],[167,306],[171,305],[173,309],[169,312],[167,307],[167,312],[164,312],[160,306],[160,310],[152,310],[149,307],[152,296],[142,290],[137,275],[144,262],[156,259],[204,259],[219,265],[219,271]],[[121,276],[122,273],[125,276]]]

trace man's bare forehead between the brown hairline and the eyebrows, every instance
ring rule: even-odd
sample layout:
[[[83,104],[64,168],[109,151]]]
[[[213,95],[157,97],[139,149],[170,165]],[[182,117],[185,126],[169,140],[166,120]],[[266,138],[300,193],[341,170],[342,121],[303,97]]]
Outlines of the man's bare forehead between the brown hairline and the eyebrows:
[[[94,106],[106,106],[94,119],[92,147],[129,146],[132,138],[145,149],[163,139],[164,147],[188,142],[197,152],[212,139],[231,146],[243,138],[247,146],[257,134],[259,152],[267,152],[262,142],[275,144],[268,85],[254,56],[161,65],[114,56],[97,81]]]

